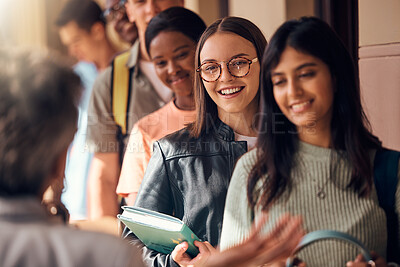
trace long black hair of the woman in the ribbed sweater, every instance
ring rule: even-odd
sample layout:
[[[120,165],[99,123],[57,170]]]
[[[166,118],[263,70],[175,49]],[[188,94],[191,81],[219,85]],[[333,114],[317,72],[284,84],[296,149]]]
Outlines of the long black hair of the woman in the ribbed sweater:
[[[263,180],[260,205],[268,206],[286,189],[291,189],[290,172],[298,149],[296,126],[279,109],[271,81],[274,69],[287,46],[312,55],[328,65],[334,81],[331,135],[335,151],[344,151],[353,171],[348,187],[360,196],[372,187],[372,166],[368,151],[381,146],[371,134],[370,124],[360,100],[360,88],[354,62],[328,24],[313,17],[303,17],[282,24],[272,36],[261,67],[261,110],[257,143],[257,162],[249,174],[247,196],[254,207],[255,185]],[[265,176],[267,174],[267,177]]]

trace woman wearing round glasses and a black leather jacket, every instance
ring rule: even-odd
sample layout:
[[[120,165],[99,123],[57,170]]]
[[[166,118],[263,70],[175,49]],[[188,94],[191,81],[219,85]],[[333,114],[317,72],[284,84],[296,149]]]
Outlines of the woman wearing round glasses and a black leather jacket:
[[[261,31],[246,19],[224,18],[205,30],[195,54],[197,73],[193,69],[196,120],[154,143],[136,198],[137,207],[182,219],[209,242],[197,244],[207,250],[219,243],[235,163],[255,143],[265,46]],[[144,260],[149,266],[185,265],[186,248],[177,246],[171,256],[144,247]]]

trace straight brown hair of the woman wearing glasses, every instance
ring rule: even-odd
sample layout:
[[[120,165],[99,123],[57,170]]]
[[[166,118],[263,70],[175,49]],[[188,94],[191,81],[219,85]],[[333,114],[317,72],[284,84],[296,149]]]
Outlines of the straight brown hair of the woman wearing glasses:
[[[257,57],[261,62],[263,51],[267,45],[267,40],[260,29],[247,19],[226,17],[218,19],[208,26],[201,35],[196,49],[196,69],[200,66],[200,53],[203,49],[204,43],[217,32],[234,33],[250,41],[256,49]],[[196,121],[190,124],[188,128],[193,136],[198,137],[204,130],[212,127],[218,117],[217,105],[207,94],[199,74],[195,75],[194,78],[194,97],[197,117]]]

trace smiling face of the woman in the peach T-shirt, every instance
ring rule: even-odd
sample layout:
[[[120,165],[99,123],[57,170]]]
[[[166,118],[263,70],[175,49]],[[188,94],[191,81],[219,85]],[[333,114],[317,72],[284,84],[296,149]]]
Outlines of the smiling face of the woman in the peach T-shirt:
[[[161,32],[150,43],[157,75],[176,95],[193,93],[195,49],[195,42],[180,32]]]

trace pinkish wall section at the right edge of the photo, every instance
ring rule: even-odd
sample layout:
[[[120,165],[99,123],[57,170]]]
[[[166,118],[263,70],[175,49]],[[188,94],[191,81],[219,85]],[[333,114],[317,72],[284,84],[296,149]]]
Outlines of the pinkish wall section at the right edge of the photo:
[[[400,1],[360,0],[360,85],[374,134],[400,150]]]

